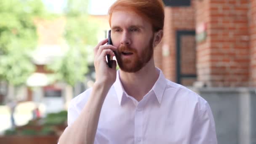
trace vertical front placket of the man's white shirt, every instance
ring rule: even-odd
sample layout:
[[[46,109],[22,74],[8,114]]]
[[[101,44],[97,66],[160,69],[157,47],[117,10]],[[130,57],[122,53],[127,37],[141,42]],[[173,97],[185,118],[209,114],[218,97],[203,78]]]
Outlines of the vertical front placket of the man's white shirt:
[[[143,108],[141,104],[138,104],[135,111],[135,122],[134,122],[134,144],[142,144],[143,143]]]

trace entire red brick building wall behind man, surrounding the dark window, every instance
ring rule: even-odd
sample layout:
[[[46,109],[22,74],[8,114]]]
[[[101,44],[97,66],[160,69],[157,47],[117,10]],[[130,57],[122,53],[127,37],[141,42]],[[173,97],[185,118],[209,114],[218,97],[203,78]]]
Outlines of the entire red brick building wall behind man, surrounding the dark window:
[[[192,0],[192,3],[190,7],[165,8],[167,32],[163,43],[170,48],[170,55],[156,63],[162,61],[166,77],[176,80],[176,30],[192,30],[195,25],[206,23],[207,39],[197,43],[197,69],[187,67],[182,71],[197,71],[197,80],[212,86],[248,86],[249,79],[250,85],[256,86],[256,1],[250,0],[250,6],[248,0]],[[192,57],[186,59],[195,61]]]

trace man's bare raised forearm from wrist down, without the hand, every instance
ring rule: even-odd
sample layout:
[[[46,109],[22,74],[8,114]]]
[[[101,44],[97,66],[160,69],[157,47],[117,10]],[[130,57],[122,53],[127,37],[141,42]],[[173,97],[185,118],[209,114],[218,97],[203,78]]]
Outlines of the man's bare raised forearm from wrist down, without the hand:
[[[99,83],[93,85],[91,96],[75,122],[59,139],[59,144],[93,144],[99,115],[108,88]]]

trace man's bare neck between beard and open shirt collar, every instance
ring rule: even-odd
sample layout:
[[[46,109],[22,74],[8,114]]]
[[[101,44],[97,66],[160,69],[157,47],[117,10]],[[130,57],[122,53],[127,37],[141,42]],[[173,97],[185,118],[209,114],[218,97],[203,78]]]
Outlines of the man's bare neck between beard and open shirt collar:
[[[120,71],[120,81],[125,92],[137,101],[143,99],[154,86],[159,77],[154,60],[150,60],[138,72],[128,73]]]

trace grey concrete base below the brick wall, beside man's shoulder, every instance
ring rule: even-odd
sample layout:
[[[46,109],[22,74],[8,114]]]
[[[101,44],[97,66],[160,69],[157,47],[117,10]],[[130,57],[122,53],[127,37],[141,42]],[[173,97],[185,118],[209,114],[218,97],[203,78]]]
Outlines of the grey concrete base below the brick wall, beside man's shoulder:
[[[195,88],[211,106],[218,144],[256,144],[256,88]]]

